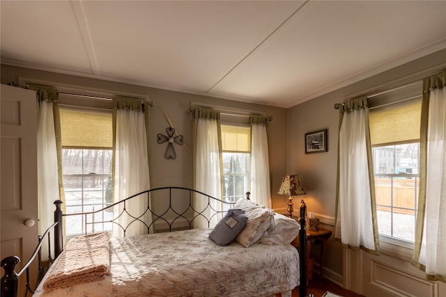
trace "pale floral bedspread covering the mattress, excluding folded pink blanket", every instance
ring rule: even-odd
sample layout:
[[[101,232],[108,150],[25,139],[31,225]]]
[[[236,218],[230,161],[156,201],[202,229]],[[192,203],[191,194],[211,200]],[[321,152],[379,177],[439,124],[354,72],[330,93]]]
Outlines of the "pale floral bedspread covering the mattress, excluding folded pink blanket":
[[[217,246],[209,233],[112,238],[112,275],[50,292],[40,284],[35,296],[273,296],[298,286],[299,257],[293,246]]]

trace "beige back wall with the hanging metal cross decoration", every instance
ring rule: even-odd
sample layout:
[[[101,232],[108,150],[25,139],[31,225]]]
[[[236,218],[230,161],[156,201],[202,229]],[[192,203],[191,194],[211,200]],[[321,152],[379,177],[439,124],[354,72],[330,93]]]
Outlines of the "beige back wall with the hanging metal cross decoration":
[[[11,81],[17,83],[19,77],[72,84],[87,88],[100,88],[115,91],[116,93],[148,95],[150,100],[160,102],[169,114],[178,134],[184,136],[184,141],[190,148],[190,151],[175,145],[176,159],[164,159],[167,145],[165,143],[162,145],[157,143],[157,134],[165,134],[165,129],[169,127],[169,123],[164,119],[160,109],[157,106],[153,107],[150,115],[151,184],[153,188],[160,186],[192,187],[193,121],[189,110],[190,102],[202,102],[218,106],[229,106],[235,109],[265,112],[266,115],[272,116],[272,121],[267,130],[268,149],[270,152],[272,207],[282,207],[284,203],[283,197],[275,194],[275,192],[279,188],[282,175],[286,171],[286,109],[1,65],[1,83],[6,84]]]

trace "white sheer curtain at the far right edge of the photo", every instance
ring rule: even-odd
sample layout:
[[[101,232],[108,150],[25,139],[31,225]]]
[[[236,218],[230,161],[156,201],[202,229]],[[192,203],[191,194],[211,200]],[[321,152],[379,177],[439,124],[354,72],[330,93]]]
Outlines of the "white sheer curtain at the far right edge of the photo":
[[[424,80],[429,102],[426,143],[426,195],[420,193],[415,265],[429,279],[446,282],[446,72]],[[425,99],[425,98],[424,98]],[[421,191],[421,189],[420,189]],[[424,203],[423,203],[424,202]],[[424,205],[423,205],[424,204]],[[421,232],[422,230],[422,232]],[[417,264],[421,264],[417,265]]]

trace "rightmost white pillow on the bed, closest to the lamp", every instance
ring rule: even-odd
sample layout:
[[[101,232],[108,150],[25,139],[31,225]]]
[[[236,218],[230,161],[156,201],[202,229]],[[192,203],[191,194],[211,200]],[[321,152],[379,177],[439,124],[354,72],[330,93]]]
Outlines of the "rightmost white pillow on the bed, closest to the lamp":
[[[275,229],[268,232],[260,240],[260,243],[274,246],[275,244],[291,243],[299,234],[300,224],[293,218],[288,218],[282,214],[274,215]]]

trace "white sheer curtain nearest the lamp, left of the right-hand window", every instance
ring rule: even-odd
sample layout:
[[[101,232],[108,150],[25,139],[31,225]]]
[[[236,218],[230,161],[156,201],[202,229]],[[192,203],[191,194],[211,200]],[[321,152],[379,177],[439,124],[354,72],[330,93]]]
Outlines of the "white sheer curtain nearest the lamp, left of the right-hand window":
[[[379,251],[367,98],[341,106],[335,237],[350,247]]]

